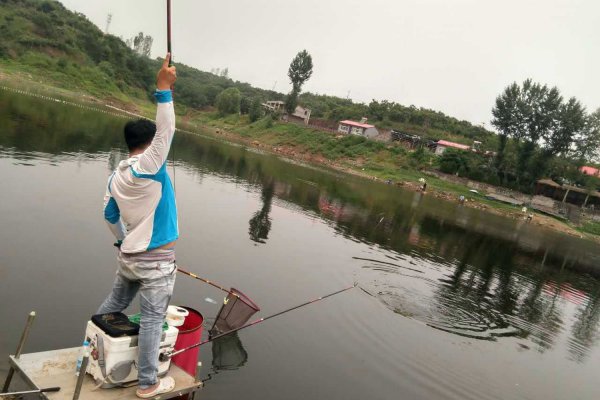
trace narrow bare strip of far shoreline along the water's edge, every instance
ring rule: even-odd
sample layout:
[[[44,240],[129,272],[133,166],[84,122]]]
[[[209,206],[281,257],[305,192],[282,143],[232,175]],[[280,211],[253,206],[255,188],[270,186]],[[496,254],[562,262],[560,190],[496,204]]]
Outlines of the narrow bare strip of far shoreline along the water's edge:
[[[148,104],[143,104],[141,99],[131,99],[131,102],[125,103],[114,97],[102,99],[102,98],[97,98],[97,97],[87,95],[87,94],[82,95],[82,93],[76,93],[76,92],[70,91],[68,89],[62,89],[62,88],[56,87],[56,86],[48,84],[48,83],[42,83],[42,82],[38,83],[35,80],[33,80],[33,78],[30,78],[30,77],[23,78],[23,77],[19,76],[19,77],[16,77],[17,79],[9,81],[10,78],[15,78],[15,76],[12,74],[11,75],[6,74],[2,70],[0,70],[0,84],[2,86],[6,85],[6,87],[8,87],[9,89],[13,89],[15,92],[17,92],[18,94],[21,94],[21,95],[31,95],[31,96],[36,96],[36,97],[42,97],[45,100],[50,100],[50,101],[54,100],[54,101],[62,101],[62,102],[64,102],[64,98],[69,98],[72,101],[76,101],[79,103],[87,103],[89,105],[94,105],[94,106],[105,107],[107,110],[112,111],[112,112],[104,111],[107,114],[116,114],[118,112],[118,113],[120,113],[119,116],[123,116],[124,114],[126,114],[129,117],[131,117],[131,116],[136,116],[136,117],[143,116],[145,118],[153,117],[152,115],[150,115],[150,116],[147,115],[150,111],[148,109],[146,109],[146,107],[144,107],[144,106],[150,105],[151,103],[148,102]],[[26,89],[33,88],[36,90],[36,92],[28,92],[27,90],[24,90],[24,88],[26,88]],[[45,93],[46,95],[54,94],[54,95],[59,96],[60,98],[52,98],[50,96],[43,96],[43,95],[41,95],[41,93],[39,91],[41,91],[42,93]],[[92,108],[92,107],[90,107],[90,108]],[[96,108],[96,107],[93,107],[93,108]],[[102,112],[103,110],[96,109],[96,111]],[[202,113],[202,112],[200,112],[200,113]],[[202,123],[201,121],[200,122],[195,121],[193,116],[191,116],[189,113],[184,116],[177,116],[177,120],[178,120],[179,124],[184,125],[184,129],[178,128],[178,130],[180,130],[184,133],[187,133],[187,134],[197,134],[197,135],[207,136],[207,137],[214,138],[214,139],[221,139],[226,143],[244,145],[248,148],[259,149],[260,151],[262,151],[266,154],[278,156],[280,158],[285,159],[288,162],[299,162],[306,166],[316,167],[316,168],[326,167],[326,168],[332,169],[334,171],[351,174],[353,176],[357,176],[357,177],[360,177],[363,179],[369,179],[372,181],[379,182],[381,184],[393,184],[394,186],[401,187],[405,190],[409,190],[412,192],[421,191],[421,183],[419,183],[416,180],[412,181],[412,180],[406,180],[406,179],[398,179],[393,183],[386,183],[385,179],[377,177],[373,174],[363,172],[362,170],[358,169],[359,167],[355,166],[353,168],[352,166],[349,166],[347,164],[345,165],[340,162],[331,161],[320,154],[314,154],[314,153],[298,150],[298,149],[296,149],[295,146],[272,145],[269,143],[265,143],[264,141],[257,140],[256,138],[243,137],[242,135],[240,135],[238,133],[228,130],[227,127],[225,127],[225,126],[215,127],[215,126],[211,126],[211,125]],[[290,124],[290,122],[275,122],[275,123]],[[225,124],[222,124],[222,125],[225,125]],[[200,130],[201,132],[193,132],[192,130],[190,130],[190,128]],[[323,133],[323,134],[327,134],[327,133]],[[350,160],[346,160],[346,161],[350,161]],[[432,173],[429,173],[427,170],[419,171],[419,170],[415,169],[414,171],[406,170],[406,172],[420,174],[423,177],[427,178],[428,188],[425,191],[425,194],[427,194],[429,196],[433,196],[436,199],[440,199],[443,201],[449,201],[449,202],[458,202],[459,193],[461,191],[468,192],[468,190],[469,190],[469,188],[467,186],[461,187],[462,185],[457,185],[458,187],[455,190],[440,189],[440,188],[436,187],[438,185],[435,184],[435,180],[437,179],[437,180],[442,181],[442,179],[433,176]],[[433,184],[429,184],[430,180],[433,181]],[[483,210],[483,211],[489,212],[491,214],[500,215],[500,216],[510,218],[513,220],[525,218],[523,213],[521,212],[520,208],[518,208],[516,206],[507,206],[502,203],[493,202],[491,200],[487,200],[487,199],[484,199],[479,196],[474,198],[472,195],[466,195],[465,197],[466,197],[466,201],[464,202],[464,205],[466,207]],[[588,239],[588,240],[592,240],[597,243],[600,243],[600,236],[598,236],[598,235],[581,232],[566,222],[562,222],[556,218],[541,214],[539,212],[534,212],[533,210],[532,210],[532,212],[534,213],[534,218],[530,223],[533,225],[536,225],[536,226],[539,226],[542,228],[546,228],[546,229],[550,229],[555,232],[563,233],[563,234],[566,234],[569,236],[578,237],[581,239]]]

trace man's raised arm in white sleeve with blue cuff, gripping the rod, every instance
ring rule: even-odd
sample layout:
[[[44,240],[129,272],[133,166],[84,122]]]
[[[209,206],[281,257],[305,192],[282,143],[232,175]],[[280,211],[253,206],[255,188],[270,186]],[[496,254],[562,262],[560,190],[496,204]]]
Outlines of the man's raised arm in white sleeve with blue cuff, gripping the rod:
[[[175,134],[175,108],[171,88],[177,80],[175,67],[169,67],[171,54],[163,61],[156,77],[156,134],[150,146],[140,156],[137,172],[156,174],[167,161]]]

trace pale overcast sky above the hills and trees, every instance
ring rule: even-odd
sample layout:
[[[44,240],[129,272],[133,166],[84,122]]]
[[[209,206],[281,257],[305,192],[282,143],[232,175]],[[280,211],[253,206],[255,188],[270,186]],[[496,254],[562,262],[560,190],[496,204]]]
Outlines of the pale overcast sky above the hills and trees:
[[[166,53],[164,0],[62,0],[102,30],[154,38]],[[388,99],[489,127],[495,97],[531,77],[600,107],[599,0],[173,0],[175,61],[290,90],[306,49],[304,90]]]

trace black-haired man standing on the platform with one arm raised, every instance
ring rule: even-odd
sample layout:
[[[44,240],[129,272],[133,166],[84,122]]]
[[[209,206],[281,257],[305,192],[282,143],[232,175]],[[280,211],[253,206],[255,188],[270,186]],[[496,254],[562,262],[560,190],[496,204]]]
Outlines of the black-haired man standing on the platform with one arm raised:
[[[108,179],[104,218],[117,238],[117,277],[98,314],[121,312],[140,293],[138,389],[141,398],[175,388],[172,377],[158,379],[162,326],[173,293],[179,237],[177,206],[167,155],[175,134],[171,88],[177,79],[167,54],[156,78],[156,125],[148,120],[125,125],[129,158]]]

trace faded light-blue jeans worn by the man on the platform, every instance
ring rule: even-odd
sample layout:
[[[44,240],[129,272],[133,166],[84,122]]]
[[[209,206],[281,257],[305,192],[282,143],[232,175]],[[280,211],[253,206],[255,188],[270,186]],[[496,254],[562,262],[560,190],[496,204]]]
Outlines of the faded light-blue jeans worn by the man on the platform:
[[[141,389],[146,389],[158,382],[162,326],[173,294],[177,270],[174,253],[171,251],[171,257],[166,257],[166,260],[149,261],[119,252],[117,260],[117,277],[112,292],[104,300],[97,314],[121,312],[129,306],[135,295],[140,293],[142,315],[138,337],[138,385]]]

